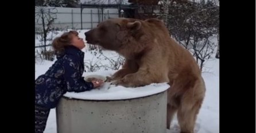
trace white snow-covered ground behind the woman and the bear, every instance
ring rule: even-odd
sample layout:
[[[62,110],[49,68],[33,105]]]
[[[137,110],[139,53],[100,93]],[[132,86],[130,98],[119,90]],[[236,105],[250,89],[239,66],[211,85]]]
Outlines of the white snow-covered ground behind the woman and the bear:
[[[85,38],[84,32],[86,30],[79,30],[79,36]],[[58,32],[55,36],[59,36],[63,32]],[[40,43],[36,40],[36,45]],[[85,52],[84,61],[91,62],[88,64],[101,64],[105,66],[111,65],[111,60],[118,59],[118,54],[110,51],[103,51],[104,56],[108,57],[107,60],[103,60],[98,54],[91,52],[88,48],[83,49]],[[98,57],[98,58],[97,58]],[[56,59],[55,59],[56,60]],[[37,60],[36,61],[36,71],[35,77],[44,74],[49,67],[53,64],[54,61],[45,61],[45,60]],[[87,64],[87,65],[88,65]],[[104,71],[103,67],[100,69],[96,69],[96,71]],[[84,73],[84,76],[87,73]],[[207,87],[206,95],[204,103],[201,107],[199,115],[197,117],[195,132],[197,133],[219,133],[219,60],[216,58],[212,58],[205,62],[205,69],[203,72],[203,78],[205,80],[205,84]],[[168,133],[178,133],[179,124],[177,124],[177,118],[173,119],[171,124],[171,129],[167,130]],[[46,124],[45,133],[56,133],[56,112],[55,109],[51,109],[49,114],[49,118]]]

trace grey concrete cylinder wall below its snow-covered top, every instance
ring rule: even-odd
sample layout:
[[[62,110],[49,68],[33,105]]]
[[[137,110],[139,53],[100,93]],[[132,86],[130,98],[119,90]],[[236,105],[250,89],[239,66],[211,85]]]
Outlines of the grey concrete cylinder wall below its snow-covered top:
[[[166,133],[167,92],[122,100],[62,97],[58,133]]]

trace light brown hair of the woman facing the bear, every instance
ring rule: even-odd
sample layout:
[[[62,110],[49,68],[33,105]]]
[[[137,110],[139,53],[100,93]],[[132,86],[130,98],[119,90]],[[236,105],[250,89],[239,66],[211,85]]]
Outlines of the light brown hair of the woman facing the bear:
[[[63,54],[66,46],[71,45],[71,40],[73,36],[77,36],[78,32],[75,30],[71,30],[69,32],[63,33],[60,37],[56,37],[52,41],[53,49],[56,54]]]

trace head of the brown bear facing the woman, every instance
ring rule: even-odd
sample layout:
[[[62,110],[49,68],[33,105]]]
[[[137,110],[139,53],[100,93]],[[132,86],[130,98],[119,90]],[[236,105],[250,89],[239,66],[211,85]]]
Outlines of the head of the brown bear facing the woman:
[[[104,49],[117,52],[123,49],[139,51],[148,40],[143,23],[133,18],[111,18],[84,34],[88,44],[100,45]]]

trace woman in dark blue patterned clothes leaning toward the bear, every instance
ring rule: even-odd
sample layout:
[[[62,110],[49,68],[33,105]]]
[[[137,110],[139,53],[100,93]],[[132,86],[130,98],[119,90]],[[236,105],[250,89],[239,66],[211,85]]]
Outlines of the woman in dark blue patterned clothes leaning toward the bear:
[[[56,107],[64,93],[90,91],[103,84],[99,79],[84,81],[84,52],[81,49],[86,45],[76,31],[56,37],[52,45],[57,60],[44,75],[36,79],[36,132],[45,130],[50,109]]]

